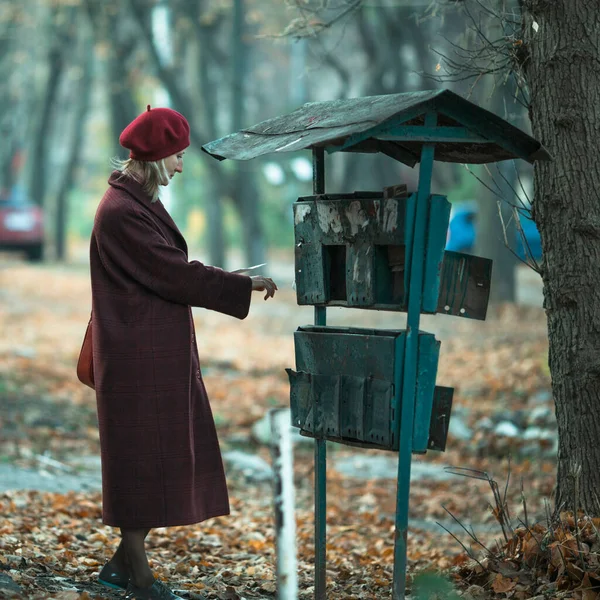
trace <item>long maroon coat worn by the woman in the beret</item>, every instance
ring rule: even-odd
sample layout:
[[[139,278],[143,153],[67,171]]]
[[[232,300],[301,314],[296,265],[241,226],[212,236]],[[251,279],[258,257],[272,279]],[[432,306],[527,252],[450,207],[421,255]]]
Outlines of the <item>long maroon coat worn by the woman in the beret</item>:
[[[159,201],[115,171],[90,245],[103,522],[127,528],[229,514],[191,306],[243,319],[250,277],[188,261]]]

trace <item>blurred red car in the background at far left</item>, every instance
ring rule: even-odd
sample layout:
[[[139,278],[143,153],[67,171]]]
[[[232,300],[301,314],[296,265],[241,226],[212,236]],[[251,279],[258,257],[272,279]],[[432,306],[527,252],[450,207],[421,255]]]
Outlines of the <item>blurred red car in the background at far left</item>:
[[[22,195],[0,197],[0,251],[25,252],[30,261],[44,254],[44,214]]]

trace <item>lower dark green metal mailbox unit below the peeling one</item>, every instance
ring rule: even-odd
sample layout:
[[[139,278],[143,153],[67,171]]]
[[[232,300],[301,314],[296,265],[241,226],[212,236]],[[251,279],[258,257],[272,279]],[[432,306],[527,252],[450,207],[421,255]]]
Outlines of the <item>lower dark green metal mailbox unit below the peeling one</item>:
[[[398,450],[403,330],[300,327],[290,379],[292,424],[310,437]],[[444,450],[452,388],[435,385],[440,343],[419,334],[413,452]]]

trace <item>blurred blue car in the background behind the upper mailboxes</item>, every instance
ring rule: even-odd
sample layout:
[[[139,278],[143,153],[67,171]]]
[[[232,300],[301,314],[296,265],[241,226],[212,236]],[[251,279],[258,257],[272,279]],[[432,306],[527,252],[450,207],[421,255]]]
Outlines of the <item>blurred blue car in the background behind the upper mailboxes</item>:
[[[542,257],[542,242],[540,234],[532,219],[519,214],[523,234],[529,245],[531,256],[535,260]],[[448,235],[446,237],[446,250],[455,252],[466,252],[472,254],[475,247],[475,236],[477,234],[477,204],[465,202],[452,207]],[[515,252],[522,260],[528,258],[520,235],[517,235]]]

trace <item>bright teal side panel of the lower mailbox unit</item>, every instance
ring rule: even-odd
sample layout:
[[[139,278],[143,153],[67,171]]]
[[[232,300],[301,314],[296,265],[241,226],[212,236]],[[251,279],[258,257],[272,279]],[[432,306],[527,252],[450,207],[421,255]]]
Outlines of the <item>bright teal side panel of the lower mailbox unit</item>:
[[[433,334],[422,333],[419,335],[417,394],[412,443],[414,453],[427,451],[439,354],[440,342],[435,339]]]

